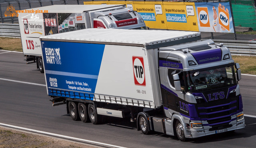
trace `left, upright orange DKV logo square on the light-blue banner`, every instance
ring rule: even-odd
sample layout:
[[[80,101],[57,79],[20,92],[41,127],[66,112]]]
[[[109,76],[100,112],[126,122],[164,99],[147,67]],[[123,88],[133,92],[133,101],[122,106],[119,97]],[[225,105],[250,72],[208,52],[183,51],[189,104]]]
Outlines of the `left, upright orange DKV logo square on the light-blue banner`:
[[[199,22],[201,27],[210,27],[208,8],[207,7],[198,7],[197,8]]]

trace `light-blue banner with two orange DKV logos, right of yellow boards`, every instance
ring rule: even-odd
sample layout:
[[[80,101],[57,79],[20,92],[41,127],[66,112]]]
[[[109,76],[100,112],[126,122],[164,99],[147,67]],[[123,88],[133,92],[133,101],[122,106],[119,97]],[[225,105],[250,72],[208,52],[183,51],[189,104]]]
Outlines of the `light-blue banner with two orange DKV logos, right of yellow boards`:
[[[234,33],[229,2],[195,3],[200,32]]]

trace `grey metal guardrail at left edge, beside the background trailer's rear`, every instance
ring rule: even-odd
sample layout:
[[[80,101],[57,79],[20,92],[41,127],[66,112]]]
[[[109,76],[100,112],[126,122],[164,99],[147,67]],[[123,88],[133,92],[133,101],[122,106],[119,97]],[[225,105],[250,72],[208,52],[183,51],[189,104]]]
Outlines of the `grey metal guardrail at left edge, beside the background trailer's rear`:
[[[7,23],[0,24],[0,36],[20,38],[19,24],[7,24]]]

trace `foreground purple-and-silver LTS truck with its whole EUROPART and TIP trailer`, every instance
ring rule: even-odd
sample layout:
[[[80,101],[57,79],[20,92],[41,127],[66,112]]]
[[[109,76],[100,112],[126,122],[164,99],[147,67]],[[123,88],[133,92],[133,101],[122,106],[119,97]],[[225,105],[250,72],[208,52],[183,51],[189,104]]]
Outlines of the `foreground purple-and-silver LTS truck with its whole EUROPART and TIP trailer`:
[[[244,128],[239,64],[222,44],[200,39],[96,28],[42,36],[48,96],[73,120],[130,117],[144,134],[181,141]]]

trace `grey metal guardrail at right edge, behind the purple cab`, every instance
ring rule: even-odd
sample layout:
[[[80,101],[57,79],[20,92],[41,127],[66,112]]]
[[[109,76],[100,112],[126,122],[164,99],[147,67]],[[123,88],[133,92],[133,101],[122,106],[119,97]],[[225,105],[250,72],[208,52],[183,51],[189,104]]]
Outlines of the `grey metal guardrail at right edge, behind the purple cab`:
[[[213,40],[215,43],[223,43],[234,56],[256,56],[256,41],[244,40]]]

